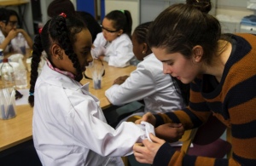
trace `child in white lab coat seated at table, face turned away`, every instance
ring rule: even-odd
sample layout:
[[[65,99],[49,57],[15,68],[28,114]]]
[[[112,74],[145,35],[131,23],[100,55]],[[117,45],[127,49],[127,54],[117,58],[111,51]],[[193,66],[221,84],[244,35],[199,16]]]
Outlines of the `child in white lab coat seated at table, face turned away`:
[[[105,95],[113,105],[124,105],[136,100],[143,100],[145,108],[137,115],[146,112],[169,112],[186,106],[176,81],[163,73],[163,65],[152,54],[146,41],[148,27],[151,22],[144,23],[134,30],[131,41],[133,53],[137,60],[142,60],[131,76],[117,78]],[[134,114],[132,114],[134,115]],[[131,115],[131,116],[132,116]],[[125,120],[125,119],[123,119]]]

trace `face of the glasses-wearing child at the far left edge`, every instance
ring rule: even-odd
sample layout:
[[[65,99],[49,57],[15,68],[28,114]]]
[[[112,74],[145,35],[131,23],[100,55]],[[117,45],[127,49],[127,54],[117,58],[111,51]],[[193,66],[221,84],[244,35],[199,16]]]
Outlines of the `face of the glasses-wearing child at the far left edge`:
[[[9,17],[9,21],[7,24],[6,24],[6,21],[0,21],[1,31],[3,32],[3,35],[7,37],[9,34],[9,31],[17,28],[17,24],[18,24],[18,18],[16,17],[16,15],[11,15]]]

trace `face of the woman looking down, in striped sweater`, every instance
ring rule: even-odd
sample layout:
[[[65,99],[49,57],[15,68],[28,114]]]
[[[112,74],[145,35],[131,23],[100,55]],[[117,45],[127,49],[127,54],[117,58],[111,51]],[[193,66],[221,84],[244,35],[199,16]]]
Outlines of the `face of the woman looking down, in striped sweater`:
[[[191,83],[201,73],[201,63],[195,62],[193,56],[187,59],[180,53],[166,54],[166,49],[152,48],[156,58],[163,62],[163,72],[177,77],[182,83]]]

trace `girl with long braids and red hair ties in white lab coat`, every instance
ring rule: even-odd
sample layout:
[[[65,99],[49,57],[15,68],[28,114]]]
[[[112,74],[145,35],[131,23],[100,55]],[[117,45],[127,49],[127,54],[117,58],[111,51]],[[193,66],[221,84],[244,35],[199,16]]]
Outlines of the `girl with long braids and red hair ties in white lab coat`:
[[[93,60],[91,46],[83,20],[63,13],[35,37],[29,103],[34,106],[34,146],[43,165],[124,165],[120,156],[130,155],[145,134],[134,123],[111,128],[88,84],[79,83]],[[43,51],[47,63],[38,77]]]

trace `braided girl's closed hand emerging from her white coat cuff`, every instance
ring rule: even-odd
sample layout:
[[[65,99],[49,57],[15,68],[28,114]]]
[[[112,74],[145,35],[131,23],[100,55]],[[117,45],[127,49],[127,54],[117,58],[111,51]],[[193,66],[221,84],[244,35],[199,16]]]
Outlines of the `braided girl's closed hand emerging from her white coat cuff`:
[[[182,123],[166,123],[154,129],[155,135],[167,142],[176,142],[184,134]]]

